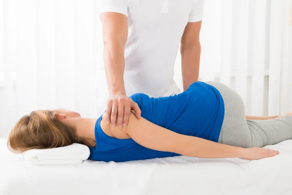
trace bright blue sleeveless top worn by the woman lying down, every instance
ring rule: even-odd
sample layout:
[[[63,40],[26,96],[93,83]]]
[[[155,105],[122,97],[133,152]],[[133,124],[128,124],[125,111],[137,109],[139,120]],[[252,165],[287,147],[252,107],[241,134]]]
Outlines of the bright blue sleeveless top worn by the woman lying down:
[[[218,142],[224,118],[224,102],[215,87],[194,82],[179,95],[149,98],[145,94],[134,94],[130,98],[138,104],[141,116],[152,123],[179,134]],[[123,162],[180,156],[148,149],[131,138],[110,137],[101,129],[101,119],[95,125],[96,147],[90,147],[91,160]]]

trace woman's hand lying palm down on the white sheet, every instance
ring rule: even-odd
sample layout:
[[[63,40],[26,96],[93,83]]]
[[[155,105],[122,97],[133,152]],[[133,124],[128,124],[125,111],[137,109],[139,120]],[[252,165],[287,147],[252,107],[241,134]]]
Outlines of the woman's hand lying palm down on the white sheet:
[[[279,154],[279,151],[265,148],[243,148],[240,158],[245,160],[258,160],[267,157],[273,157]]]

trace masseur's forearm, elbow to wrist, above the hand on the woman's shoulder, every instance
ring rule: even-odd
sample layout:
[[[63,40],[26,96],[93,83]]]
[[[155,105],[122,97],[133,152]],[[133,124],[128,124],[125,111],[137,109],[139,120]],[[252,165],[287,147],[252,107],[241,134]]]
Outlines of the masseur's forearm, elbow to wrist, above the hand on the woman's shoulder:
[[[125,93],[125,46],[118,41],[109,41],[104,46],[104,62],[110,94]]]

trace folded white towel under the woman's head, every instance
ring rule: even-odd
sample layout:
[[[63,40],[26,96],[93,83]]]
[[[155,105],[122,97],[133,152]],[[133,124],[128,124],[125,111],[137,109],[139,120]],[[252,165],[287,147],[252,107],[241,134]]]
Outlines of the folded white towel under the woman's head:
[[[70,146],[52,149],[33,149],[22,153],[24,159],[32,164],[80,164],[90,155],[87,146],[74,143]]]

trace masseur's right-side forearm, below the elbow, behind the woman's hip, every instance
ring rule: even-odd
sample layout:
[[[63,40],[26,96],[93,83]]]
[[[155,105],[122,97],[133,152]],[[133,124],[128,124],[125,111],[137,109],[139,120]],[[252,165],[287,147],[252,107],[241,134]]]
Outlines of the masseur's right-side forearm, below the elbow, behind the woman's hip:
[[[199,80],[201,44],[181,45],[183,91]]]

